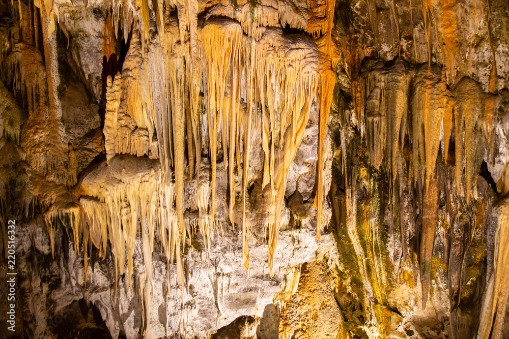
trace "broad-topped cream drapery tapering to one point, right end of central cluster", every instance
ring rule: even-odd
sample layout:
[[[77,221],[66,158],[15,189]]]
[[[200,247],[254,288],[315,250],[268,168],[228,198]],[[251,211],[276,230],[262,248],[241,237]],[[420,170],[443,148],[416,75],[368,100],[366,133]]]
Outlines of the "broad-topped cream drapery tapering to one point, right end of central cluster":
[[[292,46],[292,48],[288,48]],[[256,47],[256,77],[264,114],[265,161],[269,162],[271,200],[268,220],[269,271],[277,244],[281,203],[285,196],[288,169],[302,141],[309,109],[316,95],[318,55],[315,44],[301,36],[283,36],[267,29]],[[273,86],[275,84],[275,86]],[[270,131],[270,159],[267,136]]]

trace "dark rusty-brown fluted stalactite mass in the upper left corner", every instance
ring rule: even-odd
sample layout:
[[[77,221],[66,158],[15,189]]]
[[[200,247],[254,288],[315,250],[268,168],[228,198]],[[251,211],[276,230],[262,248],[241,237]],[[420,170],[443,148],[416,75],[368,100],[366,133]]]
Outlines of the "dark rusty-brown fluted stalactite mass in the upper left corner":
[[[54,13],[58,11],[55,12],[52,2],[18,2],[18,5],[12,10],[19,13],[19,36],[4,41],[0,64],[2,80],[12,86],[15,97],[20,94],[22,106],[29,113],[23,123],[24,135],[33,137],[21,140],[21,145],[36,173],[45,175],[49,181],[72,185],[75,178],[65,166],[68,149],[56,93],[60,77],[55,60],[54,31],[58,20],[55,21]]]

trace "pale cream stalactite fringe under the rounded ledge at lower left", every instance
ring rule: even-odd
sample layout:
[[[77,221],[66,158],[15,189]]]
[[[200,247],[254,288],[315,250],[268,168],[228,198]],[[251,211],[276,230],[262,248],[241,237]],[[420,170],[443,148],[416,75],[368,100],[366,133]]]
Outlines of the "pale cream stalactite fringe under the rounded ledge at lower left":
[[[159,225],[161,235],[165,235],[161,239],[168,262],[173,261],[174,258],[171,250],[176,251],[179,228],[176,218],[175,222],[171,222],[171,215],[176,217],[174,185],[167,187],[165,184],[158,183],[161,178],[158,161],[140,158],[144,160],[137,162],[135,158],[129,158],[130,156],[124,157],[127,158],[113,158],[107,167],[103,165],[83,179],[81,184],[84,193],[93,198],[82,197],[79,204],[85,214],[84,220],[90,229],[92,242],[102,252],[103,257],[107,233],[109,234],[111,252],[120,269],[120,274],[124,274],[124,258],[127,249],[128,272],[130,284],[132,284],[133,241],[138,220],[142,225],[144,261],[149,281],[152,279],[153,271],[151,254],[155,227]],[[110,177],[107,181],[102,179],[101,169],[104,168],[107,169],[105,175]],[[130,172],[124,171],[122,174],[123,168],[129,169]],[[142,170],[142,173],[148,173],[148,176],[147,174],[136,175],[136,170]],[[180,252],[180,248],[177,250]]]

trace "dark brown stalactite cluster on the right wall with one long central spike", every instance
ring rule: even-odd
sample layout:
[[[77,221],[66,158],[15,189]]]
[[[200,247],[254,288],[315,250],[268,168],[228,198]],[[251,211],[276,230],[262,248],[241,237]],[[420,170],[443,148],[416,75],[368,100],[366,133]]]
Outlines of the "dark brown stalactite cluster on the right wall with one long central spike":
[[[364,109],[370,162],[377,169],[385,168],[391,179],[392,194],[397,192],[399,167],[406,161],[405,139],[412,145],[406,165],[411,168],[409,182],[398,185],[413,185],[422,197],[419,261],[423,305],[426,305],[438,223],[440,189],[435,166],[440,149],[447,163],[454,118],[456,187],[468,205],[474,198],[475,178],[483,159],[494,157],[490,130],[491,116],[498,101],[466,77],[451,90],[447,86],[445,69],[436,65],[411,66],[398,58],[393,65],[378,62],[366,67],[371,70],[360,77],[361,94],[356,97],[356,106]]]

